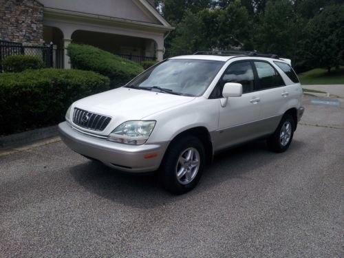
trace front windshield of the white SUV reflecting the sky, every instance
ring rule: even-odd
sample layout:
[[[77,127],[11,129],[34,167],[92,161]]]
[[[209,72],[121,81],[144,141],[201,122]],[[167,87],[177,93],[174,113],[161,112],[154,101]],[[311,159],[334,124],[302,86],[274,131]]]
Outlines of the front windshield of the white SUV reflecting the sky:
[[[222,65],[222,61],[171,59],[151,67],[125,87],[201,96]]]

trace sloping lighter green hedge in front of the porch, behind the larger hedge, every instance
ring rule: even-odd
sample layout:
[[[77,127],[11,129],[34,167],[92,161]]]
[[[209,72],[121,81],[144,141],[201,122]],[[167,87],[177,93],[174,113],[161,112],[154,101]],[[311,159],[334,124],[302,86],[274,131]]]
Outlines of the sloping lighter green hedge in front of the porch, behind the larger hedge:
[[[125,85],[143,72],[137,63],[91,45],[69,44],[67,54],[76,69],[98,72],[110,78],[111,88]]]

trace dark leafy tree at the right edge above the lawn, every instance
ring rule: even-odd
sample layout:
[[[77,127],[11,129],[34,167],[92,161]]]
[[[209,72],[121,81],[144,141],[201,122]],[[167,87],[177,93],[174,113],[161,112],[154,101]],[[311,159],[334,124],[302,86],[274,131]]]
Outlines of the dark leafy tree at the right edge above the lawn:
[[[344,64],[344,6],[327,6],[305,28],[303,59],[310,67]]]

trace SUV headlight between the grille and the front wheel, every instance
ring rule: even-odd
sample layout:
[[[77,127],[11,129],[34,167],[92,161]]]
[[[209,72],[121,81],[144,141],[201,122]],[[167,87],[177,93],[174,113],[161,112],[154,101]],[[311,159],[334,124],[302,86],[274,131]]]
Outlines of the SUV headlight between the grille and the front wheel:
[[[123,122],[109,134],[107,140],[131,145],[141,145],[147,142],[156,121],[127,121]]]

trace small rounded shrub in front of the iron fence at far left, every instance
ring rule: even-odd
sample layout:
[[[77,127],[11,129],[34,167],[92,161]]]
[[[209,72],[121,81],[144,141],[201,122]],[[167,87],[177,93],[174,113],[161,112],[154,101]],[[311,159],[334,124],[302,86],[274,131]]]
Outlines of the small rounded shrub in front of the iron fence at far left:
[[[1,64],[5,72],[23,72],[25,69],[43,68],[43,61],[39,56],[25,56],[22,54],[6,56]]]

